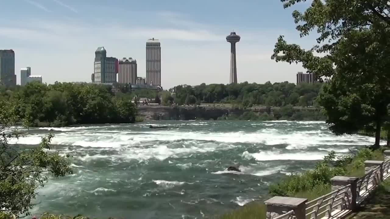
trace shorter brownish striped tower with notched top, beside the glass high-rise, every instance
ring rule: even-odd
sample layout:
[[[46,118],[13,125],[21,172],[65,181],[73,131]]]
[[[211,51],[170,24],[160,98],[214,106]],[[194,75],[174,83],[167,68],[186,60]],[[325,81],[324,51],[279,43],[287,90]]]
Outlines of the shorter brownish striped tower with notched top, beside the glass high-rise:
[[[118,82],[137,83],[137,60],[133,58],[122,58],[118,63]]]

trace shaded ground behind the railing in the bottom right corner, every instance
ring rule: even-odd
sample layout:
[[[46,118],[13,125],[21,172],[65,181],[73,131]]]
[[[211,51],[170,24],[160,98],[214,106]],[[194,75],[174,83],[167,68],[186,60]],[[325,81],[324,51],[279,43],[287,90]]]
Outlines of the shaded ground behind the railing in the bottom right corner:
[[[383,182],[347,219],[390,219],[390,180]]]

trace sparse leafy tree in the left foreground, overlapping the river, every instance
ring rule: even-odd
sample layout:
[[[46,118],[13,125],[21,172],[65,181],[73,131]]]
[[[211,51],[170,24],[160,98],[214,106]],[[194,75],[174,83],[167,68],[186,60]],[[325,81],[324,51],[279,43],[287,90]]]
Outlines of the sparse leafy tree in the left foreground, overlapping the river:
[[[0,209],[7,214],[28,215],[36,190],[48,180],[43,172],[61,177],[72,174],[72,170],[67,156],[48,152],[53,135],[42,138],[35,148],[10,145],[8,140],[18,136],[12,128],[19,120],[17,106],[0,100],[0,111]]]

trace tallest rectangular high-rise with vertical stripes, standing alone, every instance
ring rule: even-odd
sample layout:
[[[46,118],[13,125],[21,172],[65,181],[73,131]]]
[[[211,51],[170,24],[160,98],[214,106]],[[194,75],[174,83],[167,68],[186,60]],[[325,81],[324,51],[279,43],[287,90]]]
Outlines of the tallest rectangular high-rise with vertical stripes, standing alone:
[[[161,44],[154,38],[146,41],[146,83],[161,87]]]

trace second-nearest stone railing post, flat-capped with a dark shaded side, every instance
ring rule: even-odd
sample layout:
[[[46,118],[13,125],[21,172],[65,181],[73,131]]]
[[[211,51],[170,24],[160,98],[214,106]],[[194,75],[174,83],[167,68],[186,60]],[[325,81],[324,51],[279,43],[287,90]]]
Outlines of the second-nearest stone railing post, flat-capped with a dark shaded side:
[[[357,182],[359,178],[357,177],[342,177],[336,176],[330,179],[332,183],[332,191],[338,190],[346,185],[351,185],[351,191],[347,190],[347,196],[351,197],[351,200],[348,200],[346,205],[349,210],[356,210],[356,200],[357,200]],[[345,200],[345,199],[344,199]],[[345,200],[346,201],[346,200]]]

